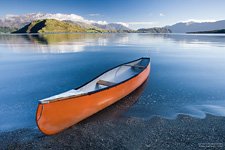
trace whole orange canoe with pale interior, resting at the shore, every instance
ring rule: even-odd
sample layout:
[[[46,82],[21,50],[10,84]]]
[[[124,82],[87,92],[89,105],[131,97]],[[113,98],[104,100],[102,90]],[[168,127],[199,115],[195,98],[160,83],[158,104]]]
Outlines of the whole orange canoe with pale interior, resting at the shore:
[[[58,133],[137,89],[148,78],[150,59],[119,65],[83,86],[39,101],[36,122],[47,135]]]

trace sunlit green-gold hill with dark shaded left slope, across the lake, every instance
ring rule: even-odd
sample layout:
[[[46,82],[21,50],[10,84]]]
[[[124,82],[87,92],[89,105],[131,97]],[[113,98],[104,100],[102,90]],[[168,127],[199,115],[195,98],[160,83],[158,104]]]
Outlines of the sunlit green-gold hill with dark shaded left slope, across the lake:
[[[67,32],[102,32],[94,28],[86,29],[79,25],[59,21],[55,19],[44,19],[32,21],[23,28],[13,33],[67,33]]]

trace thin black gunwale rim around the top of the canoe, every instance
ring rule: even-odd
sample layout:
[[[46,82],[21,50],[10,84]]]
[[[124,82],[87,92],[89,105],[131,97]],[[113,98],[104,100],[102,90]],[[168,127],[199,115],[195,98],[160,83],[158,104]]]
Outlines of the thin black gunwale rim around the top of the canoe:
[[[87,92],[87,93],[81,93],[81,94],[77,94],[77,95],[71,95],[71,96],[68,96],[68,97],[56,98],[56,99],[51,99],[51,100],[40,100],[40,101],[39,101],[39,104],[53,103],[53,102],[62,101],[62,100],[69,100],[69,99],[77,98],[77,97],[81,97],[81,96],[92,95],[92,94],[95,94],[95,93],[97,93],[97,92],[100,92],[100,91],[103,91],[103,90],[109,90],[110,88],[113,88],[113,87],[116,87],[116,86],[118,86],[118,85],[120,85],[120,84],[123,84],[123,83],[125,83],[125,82],[127,82],[127,81],[129,81],[129,80],[131,80],[131,79],[133,79],[133,78],[135,78],[136,76],[138,76],[139,74],[141,74],[143,71],[145,71],[146,68],[147,68],[148,66],[151,65],[151,60],[150,60],[150,58],[149,58],[149,57],[141,57],[141,58],[139,58],[139,59],[136,59],[136,60],[133,60],[133,61],[130,61],[130,62],[126,62],[126,63],[120,64],[120,65],[117,65],[117,66],[115,66],[115,67],[113,67],[113,68],[110,68],[110,69],[104,71],[104,72],[101,73],[100,75],[94,77],[92,80],[89,80],[88,82],[86,82],[86,83],[82,84],[81,86],[79,86],[79,87],[77,87],[77,88],[74,88],[74,89],[75,89],[75,90],[78,90],[79,88],[81,88],[81,87],[85,86],[86,84],[88,84],[88,83],[94,81],[96,78],[102,76],[103,74],[105,74],[106,72],[108,72],[108,71],[110,71],[110,70],[113,70],[113,69],[115,69],[115,68],[117,68],[117,67],[120,67],[120,66],[123,66],[123,65],[125,65],[125,64],[129,64],[129,63],[132,63],[132,62],[135,62],[135,61],[138,61],[138,60],[142,60],[142,59],[148,59],[148,60],[149,60],[149,63],[143,68],[143,70],[142,70],[141,72],[139,72],[139,73],[136,74],[136,75],[131,76],[130,78],[127,78],[126,80],[123,80],[123,81],[121,81],[121,82],[119,82],[119,83],[116,83],[116,84],[114,84],[114,85],[112,85],[112,86],[108,86],[108,87],[105,87],[105,88],[102,88],[102,89],[98,89],[98,90],[95,90],[95,91],[90,91],[90,92]]]

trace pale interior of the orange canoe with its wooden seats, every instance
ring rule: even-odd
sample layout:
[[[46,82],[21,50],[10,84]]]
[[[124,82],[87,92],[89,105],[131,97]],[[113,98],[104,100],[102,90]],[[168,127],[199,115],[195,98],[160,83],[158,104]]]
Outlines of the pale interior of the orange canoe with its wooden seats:
[[[99,77],[95,78],[91,82],[85,84],[84,86],[78,89],[72,89],[55,96],[45,98],[40,100],[39,102],[48,103],[56,99],[83,95],[89,92],[94,92],[104,88],[111,87],[139,74],[148,66],[149,62],[150,62],[149,58],[140,58],[136,61],[120,65],[116,68],[113,68],[103,73]]]

